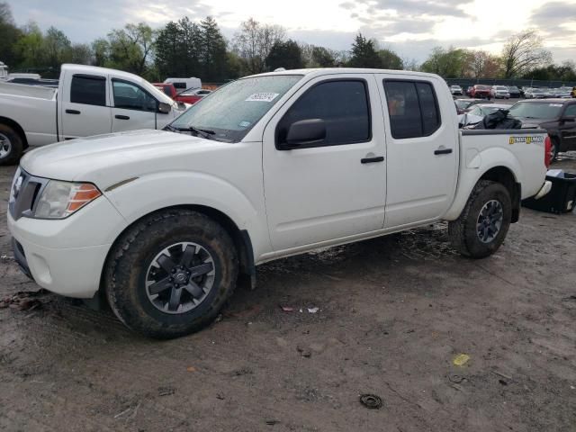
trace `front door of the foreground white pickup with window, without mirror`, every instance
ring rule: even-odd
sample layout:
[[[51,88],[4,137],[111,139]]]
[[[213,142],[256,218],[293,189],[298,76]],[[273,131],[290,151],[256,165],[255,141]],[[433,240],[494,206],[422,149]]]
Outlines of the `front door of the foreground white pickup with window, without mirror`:
[[[264,103],[264,102],[254,102]],[[264,133],[266,215],[275,251],[383,228],[382,107],[374,75],[312,79]],[[283,149],[296,121],[320,121],[324,139]]]

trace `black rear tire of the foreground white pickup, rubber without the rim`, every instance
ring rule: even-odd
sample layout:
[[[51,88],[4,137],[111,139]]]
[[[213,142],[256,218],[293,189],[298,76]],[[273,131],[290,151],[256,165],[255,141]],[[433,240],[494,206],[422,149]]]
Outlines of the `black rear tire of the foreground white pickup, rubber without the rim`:
[[[491,200],[500,202],[502,206],[502,223],[497,236],[490,243],[483,243],[478,237],[476,223],[482,208]],[[460,217],[448,223],[450,242],[464,257],[489,257],[506,238],[511,218],[512,201],[508,189],[503,184],[481,180],[474,186]]]

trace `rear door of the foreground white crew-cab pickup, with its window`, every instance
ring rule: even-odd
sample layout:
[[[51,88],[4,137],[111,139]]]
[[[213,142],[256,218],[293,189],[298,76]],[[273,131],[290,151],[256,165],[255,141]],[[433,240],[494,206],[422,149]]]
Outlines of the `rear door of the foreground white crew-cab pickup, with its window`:
[[[434,220],[452,203],[458,175],[451,101],[438,100],[426,78],[379,74],[388,154],[385,228]],[[446,107],[442,118],[440,106]],[[449,107],[449,108],[448,108]]]

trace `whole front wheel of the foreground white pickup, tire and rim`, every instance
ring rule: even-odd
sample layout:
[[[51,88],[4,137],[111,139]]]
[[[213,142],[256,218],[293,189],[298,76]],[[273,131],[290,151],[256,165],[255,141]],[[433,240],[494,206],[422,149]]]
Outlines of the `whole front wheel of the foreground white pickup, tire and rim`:
[[[154,213],[112,248],[104,289],[130,329],[177,338],[216,318],[234,291],[238,257],[226,230],[196,211]]]

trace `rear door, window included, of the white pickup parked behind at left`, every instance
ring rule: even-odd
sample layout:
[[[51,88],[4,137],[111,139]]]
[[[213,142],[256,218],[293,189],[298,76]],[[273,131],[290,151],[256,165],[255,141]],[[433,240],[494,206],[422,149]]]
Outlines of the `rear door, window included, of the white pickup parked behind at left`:
[[[104,74],[65,76],[59,109],[60,139],[110,133],[112,116],[106,80]],[[68,82],[70,85],[66,85]]]

